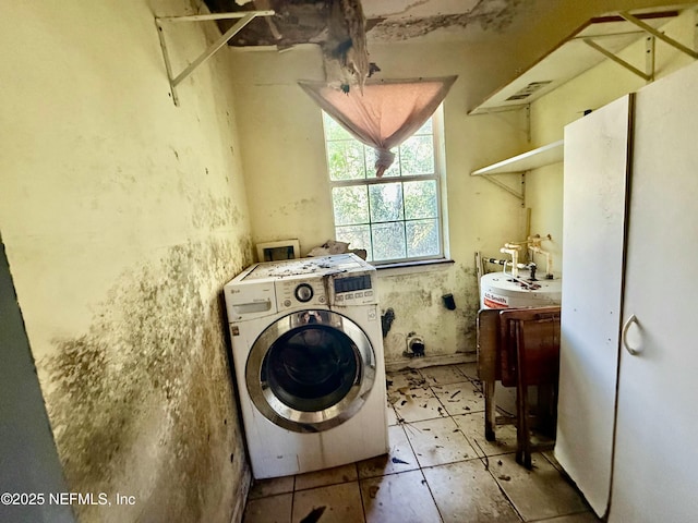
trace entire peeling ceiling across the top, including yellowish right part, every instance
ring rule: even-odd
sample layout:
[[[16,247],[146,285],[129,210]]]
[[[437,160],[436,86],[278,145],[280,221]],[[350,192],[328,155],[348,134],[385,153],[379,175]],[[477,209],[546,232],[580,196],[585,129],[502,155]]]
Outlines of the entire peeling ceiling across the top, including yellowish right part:
[[[228,44],[244,48],[273,46],[279,50],[316,44],[323,50],[326,80],[342,89],[361,86],[373,72],[380,71],[369,58],[373,44],[422,38],[495,41],[497,46],[506,42],[505,52],[519,54],[527,48],[534,57],[550,50],[590,17],[603,14],[604,9],[653,11],[666,9],[661,5],[671,3],[666,0],[204,1],[213,13],[273,10],[273,16],[255,17]],[[660,7],[648,9],[646,2]],[[236,20],[218,21],[221,32],[236,23]],[[516,74],[520,72],[516,70]]]

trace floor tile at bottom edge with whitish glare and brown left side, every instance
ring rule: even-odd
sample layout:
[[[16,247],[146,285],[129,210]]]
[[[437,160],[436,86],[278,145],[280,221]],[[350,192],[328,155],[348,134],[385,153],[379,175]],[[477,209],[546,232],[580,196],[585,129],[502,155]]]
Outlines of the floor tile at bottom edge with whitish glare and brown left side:
[[[434,499],[420,471],[361,481],[366,523],[440,523]]]

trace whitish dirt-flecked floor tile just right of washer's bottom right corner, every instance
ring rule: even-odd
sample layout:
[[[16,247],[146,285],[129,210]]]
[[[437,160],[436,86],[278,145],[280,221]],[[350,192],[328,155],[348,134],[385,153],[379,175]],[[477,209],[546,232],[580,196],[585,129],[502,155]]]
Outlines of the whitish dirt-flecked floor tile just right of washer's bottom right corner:
[[[410,423],[405,426],[421,466],[472,460],[477,453],[450,417]]]

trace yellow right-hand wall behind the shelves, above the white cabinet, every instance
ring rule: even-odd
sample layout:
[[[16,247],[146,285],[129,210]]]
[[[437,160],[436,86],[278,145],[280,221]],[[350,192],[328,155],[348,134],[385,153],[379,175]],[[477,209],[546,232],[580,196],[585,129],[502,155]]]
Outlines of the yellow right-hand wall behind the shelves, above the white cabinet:
[[[684,46],[695,48],[696,21],[696,10],[688,10],[669,22],[662,31]],[[645,41],[634,44],[619,56],[643,70]],[[657,40],[655,78],[666,76],[691,61],[688,56]],[[531,105],[531,147],[563,138],[565,125],[582,118],[586,109],[603,107],[645,84],[642,78],[619,64],[604,60]],[[562,270],[563,163],[531,171],[526,181],[526,206],[531,208],[531,232],[552,235],[553,240],[544,242],[543,247],[553,253],[556,270]]]

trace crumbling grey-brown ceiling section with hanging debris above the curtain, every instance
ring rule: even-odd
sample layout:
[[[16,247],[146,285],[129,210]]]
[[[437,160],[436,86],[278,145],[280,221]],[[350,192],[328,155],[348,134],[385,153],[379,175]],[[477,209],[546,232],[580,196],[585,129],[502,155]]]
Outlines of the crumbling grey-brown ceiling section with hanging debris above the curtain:
[[[328,81],[360,84],[378,66],[368,41],[401,41],[432,33],[497,33],[517,20],[531,0],[205,0],[213,13],[273,10],[229,40],[234,47],[287,49],[316,44]],[[221,32],[236,23],[219,21]]]

